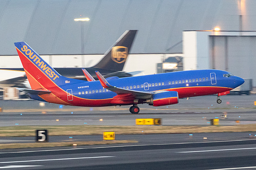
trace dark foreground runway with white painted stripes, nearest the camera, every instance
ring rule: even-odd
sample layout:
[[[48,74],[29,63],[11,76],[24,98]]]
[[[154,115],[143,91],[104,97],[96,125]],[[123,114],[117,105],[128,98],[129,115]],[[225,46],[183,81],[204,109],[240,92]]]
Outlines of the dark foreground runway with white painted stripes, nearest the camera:
[[[0,168],[249,169],[256,167],[255,150],[255,139],[7,150],[0,153]]]

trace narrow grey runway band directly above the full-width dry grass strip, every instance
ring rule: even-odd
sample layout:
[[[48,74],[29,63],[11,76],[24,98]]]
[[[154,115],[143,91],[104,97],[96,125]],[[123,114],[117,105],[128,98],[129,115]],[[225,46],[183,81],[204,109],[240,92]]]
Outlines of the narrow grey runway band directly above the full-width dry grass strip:
[[[29,114],[0,115],[0,126],[58,126],[58,125],[135,125],[136,118],[161,118],[162,125],[201,125],[209,126],[212,118],[219,118],[220,125],[255,124],[254,112],[228,112],[227,119],[222,119],[220,112],[201,113],[151,113],[151,114]]]

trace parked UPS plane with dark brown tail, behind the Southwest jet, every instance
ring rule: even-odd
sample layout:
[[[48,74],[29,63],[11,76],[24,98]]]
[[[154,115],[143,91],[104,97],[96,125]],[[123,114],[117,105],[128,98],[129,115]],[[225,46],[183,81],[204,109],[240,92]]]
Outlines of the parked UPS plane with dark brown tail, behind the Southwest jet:
[[[86,70],[94,77],[94,79],[97,79],[95,74],[96,70],[100,71],[105,78],[113,76],[131,77],[141,72],[122,71],[136,33],[137,30],[125,31],[124,34],[119,39],[117,39],[116,42],[108,49],[99,63],[92,67],[86,68]],[[72,79],[86,80],[82,69],[79,67],[57,67],[54,69],[62,76]],[[0,74],[2,75],[0,78],[0,87],[2,88],[11,86],[29,88],[29,84],[26,84],[27,77],[23,68],[0,68]],[[8,78],[3,77],[3,75],[7,74]]]

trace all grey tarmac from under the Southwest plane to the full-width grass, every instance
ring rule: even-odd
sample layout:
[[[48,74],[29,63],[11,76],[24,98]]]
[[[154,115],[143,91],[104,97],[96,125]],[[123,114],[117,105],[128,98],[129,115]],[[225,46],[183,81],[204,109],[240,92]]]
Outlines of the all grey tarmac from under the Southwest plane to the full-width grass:
[[[256,95],[223,96],[222,104],[216,96],[200,96],[179,104],[153,107],[140,105],[139,114],[129,113],[130,106],[85,108],[36,101],[0,101],[0,126],[57,126],[57,125],[135,125],[136,118],[161,118],[162,125],[208,126],[210,119],[220,118],[220,125],[256,123]],[[227,119],[220,116],[226,112]],[[102,121],[100,121],[100,119]]]

